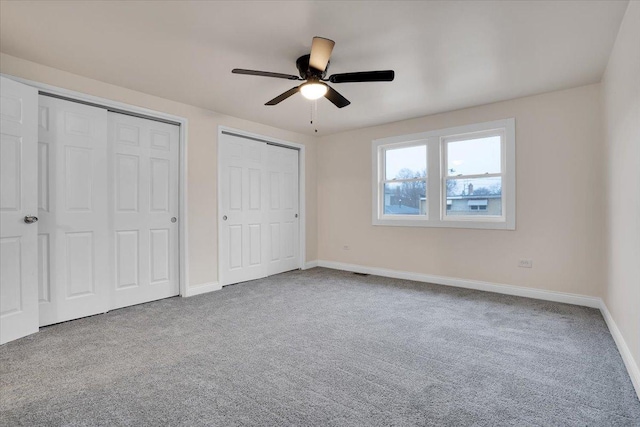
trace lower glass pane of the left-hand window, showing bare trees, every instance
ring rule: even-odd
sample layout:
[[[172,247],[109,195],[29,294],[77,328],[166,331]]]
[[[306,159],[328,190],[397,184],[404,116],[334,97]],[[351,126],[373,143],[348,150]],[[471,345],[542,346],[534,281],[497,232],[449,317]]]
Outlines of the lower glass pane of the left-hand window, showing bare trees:
[[[384,184],[385,215],[426,215],[426,181]]]

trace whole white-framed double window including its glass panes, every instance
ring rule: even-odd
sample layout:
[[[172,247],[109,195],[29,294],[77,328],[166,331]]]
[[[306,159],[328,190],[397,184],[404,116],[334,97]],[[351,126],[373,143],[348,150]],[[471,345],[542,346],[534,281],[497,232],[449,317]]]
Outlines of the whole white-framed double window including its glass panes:
[[[373,141],[373,224],[515,229],[515,120]]]

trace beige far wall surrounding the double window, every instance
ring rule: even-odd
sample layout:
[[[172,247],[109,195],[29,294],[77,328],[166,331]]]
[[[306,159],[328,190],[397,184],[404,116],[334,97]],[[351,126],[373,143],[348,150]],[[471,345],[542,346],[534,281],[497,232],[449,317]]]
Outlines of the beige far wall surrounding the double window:
[[[515,231],[371,225],[373,139],[509,117]],[[601,296],[601,132],[600,87],[589,85],[322,137],[318,258]],[[533,268],[518,268],[518,258]]]

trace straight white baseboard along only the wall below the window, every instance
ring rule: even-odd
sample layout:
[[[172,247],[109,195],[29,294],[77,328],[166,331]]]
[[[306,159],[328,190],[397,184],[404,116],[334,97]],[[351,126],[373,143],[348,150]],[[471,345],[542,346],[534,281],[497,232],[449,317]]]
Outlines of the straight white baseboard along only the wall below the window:
[[[600,308],[601,299],[585,295],[568,294],[564,292],[546,291],[542,289],[525,288],[522,286],[505,285],[479,280],[459,279],[456,277],[434,276],[431,274],[410,273],[400,270],[388,270],[385,268],[366,267],[356,264],[345,264],[334,261],[317,261],[318,267],[332,268],[334,270],[353,271],[355,273],[373,274],[376,276],[391,277],[394,279],[414,280],[416,282],[435,283],[436,285],[454,286],[458,288],[475,289],[478,291],[496,292],[505,295],[515,295],[541,299],[545,301],[562,302],[565,304],[582,305],[585,307]]]

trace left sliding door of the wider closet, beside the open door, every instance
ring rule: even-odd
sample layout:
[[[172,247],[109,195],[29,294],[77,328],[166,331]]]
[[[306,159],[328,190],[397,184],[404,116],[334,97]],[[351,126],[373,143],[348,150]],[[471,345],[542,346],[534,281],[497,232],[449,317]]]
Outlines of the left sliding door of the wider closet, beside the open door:
[[[108,310],[107,112],[39,97],[40,325]]]

